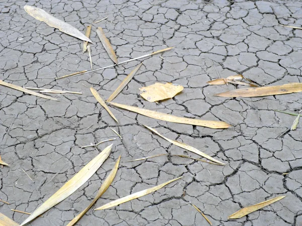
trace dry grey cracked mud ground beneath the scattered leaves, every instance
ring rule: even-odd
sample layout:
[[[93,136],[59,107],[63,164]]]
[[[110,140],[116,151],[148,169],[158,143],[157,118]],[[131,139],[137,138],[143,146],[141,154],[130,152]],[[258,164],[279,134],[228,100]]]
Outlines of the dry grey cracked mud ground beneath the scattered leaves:
[[[32,212],[99,153],[81,146],[117,138],[97,173],[30,225],[66,225],[91,202],[119,155],[122,163],[117,176],[96,207],[178,176],[183,179],[115,208],[89,210],[78,225],[207,225],[190,203],[213,225],[301,225],[302,129],[277,138],[294,117],[273,109],[300,109],[302,93],[222,98],[213,94],[237,87],[209,86],[206,81],[243,73],[262,85],[302,82],[302,31],[278,26],[301,26],[302,2],[43,0],[27,4],[83,33],[93,21],[108,17],[93,24],[94,68],[112,64],[97,37],[97,26],[103,27],[119,61],[174,46],[162,54],[165,59],[156,55],[143,60],[114,102],[225,121],[232,127],[213,130],[167,123],[111,107],[120,122],[117,125],[89,87],[107,98],[139,62],[54,81],[55,76],[90,69],[88,53],[82,53],[83,42],[29,16],[23,10],[24,1],[2,1],[1,79],[20,86],[83,92],[52,94],[60,101],[56,102],[0,88],[0,154],[11,165],[0,169],[0,198],[11,203],[0,204],[2,213],[20,223],[27,215],[11,208]],[[141,99],[138,88],[157,81],[177,83],[185,89],[160,104]],[[125,163],[161,153],[198,158],[150,133],[136,120],[227,164],[167,156]],[[101,144],[99,149],[109,144]],[[278,195],[287,196],[248,216],[228,220],[241,207]]]

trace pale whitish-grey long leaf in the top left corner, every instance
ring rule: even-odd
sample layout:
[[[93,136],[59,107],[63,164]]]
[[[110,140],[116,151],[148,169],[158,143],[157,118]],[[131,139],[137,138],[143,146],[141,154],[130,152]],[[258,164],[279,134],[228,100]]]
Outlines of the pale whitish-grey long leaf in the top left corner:
[[[67,35],[71,35],[75,38],[92,43],[92,41],[89,38],[87,38],[84,34],[82,34],[78,29],[72,27],[70,24],[67,24],[59,19],[56,19],[55,17],[46,13],[42,9],[25,5],[24,10],[26,11],[26,13],[28,13],[30,16],[32,16],[36,20],[45,22],[48,26],[50,26],[52,28],[59,29],[61,32],[65,33]]]

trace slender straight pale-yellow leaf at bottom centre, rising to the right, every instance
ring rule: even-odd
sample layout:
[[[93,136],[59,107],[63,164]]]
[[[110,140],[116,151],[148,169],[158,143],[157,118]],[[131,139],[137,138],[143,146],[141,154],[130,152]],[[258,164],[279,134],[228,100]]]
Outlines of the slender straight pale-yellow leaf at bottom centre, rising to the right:
[[[122,203],[124,203],[124,202],[128,202],[128,201],[130,201],[130,200],[133,200],[133,199],[142,197],[142,196],[147,195],[147,194],[150,194],[150,193],[152,193],[152,192],[154,192],[154,191],[156,191],[156,190],[159,190],[159,189],[161,189],[162,187],[166,186],[167,184],[170,184],[170,183],[172,183],[173,181],[176,181],[176,180],[178,180],[178,179],[180,179],[180,178],[182,178],[182,177],[178,177],[178,178],[175,178],[175,179],[173,179],[173,180],[169,180],[169,181],[167,181],[167,182],[165,182],[165,183],[162,183],[162,184],[160,184],[160,185],[157,185],[157,186],[155,186],[155,187],[147,188],[147,189],[145,189],[145,190],[135,192],[134,194],[130,194],[130,195],[127,195],[127,196],[125,196],[125,197],[116,199],[116,200],[111,201],[111,202],[109,202],[109,203],[107,203],[107,204],[105,204],[105,205],[102,205],[101,207],[96,208],[96,209],[94,209],[94,210],[108,209],[108,208],[110,208],[110,207],[113,207],[113,206],[122,204]]]

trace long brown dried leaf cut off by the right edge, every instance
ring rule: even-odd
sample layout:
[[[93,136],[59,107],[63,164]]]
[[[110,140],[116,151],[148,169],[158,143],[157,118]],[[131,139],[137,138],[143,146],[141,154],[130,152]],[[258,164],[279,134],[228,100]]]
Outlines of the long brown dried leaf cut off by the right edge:
[[[286,93],[301,92],[301,91],[302,91],[302,83],[293,82],[293,83],[288,83],[288,84],[284,84],[284,85],[235,89],[235,90],[231,90],[228,92],[217,93],[217,94],[214,94],[214,96],[257,97],[257,96],[278,95],[278,94],[286,94]]]

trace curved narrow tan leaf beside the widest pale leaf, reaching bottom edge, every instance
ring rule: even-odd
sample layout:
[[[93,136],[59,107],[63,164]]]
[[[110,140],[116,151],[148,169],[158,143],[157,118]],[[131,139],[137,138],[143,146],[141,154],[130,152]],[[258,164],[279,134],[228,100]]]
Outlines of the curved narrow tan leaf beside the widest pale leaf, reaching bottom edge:
[[[111,170],[110,174],[106,177],[105,181],[103,182],[102,186],[100,187],[96,197],[93,199],[93,201],[89,204],[89,206],[86,207],[86,209],[84,209],[79,215],[77,215],[76,217],[74,217],[68,224],[67,226],[72,226],[73,224],[75,224],[82,216],[84,216],[84,214],[91,208],[91,206],[94,205],[94,203],[96,203],[96,201],[105,193],[105,191],[107,191],[107,189],[109,188],[110,184],[112,183],[112,181],[115,178],[117,169],[118,169],[118,164],[120,162],[121,156],[118,157],[113,169]]]

